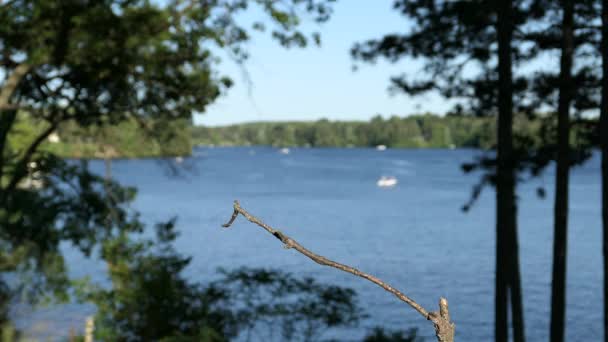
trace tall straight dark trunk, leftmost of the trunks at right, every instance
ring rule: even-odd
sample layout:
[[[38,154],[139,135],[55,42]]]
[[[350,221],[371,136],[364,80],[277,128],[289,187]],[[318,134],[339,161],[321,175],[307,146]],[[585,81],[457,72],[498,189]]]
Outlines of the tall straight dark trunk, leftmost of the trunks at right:
[[[511,1],[502,0],[497,11],[498,35],[498,125],[497,125],[497,183],[496,183],[496,288],[494,337],[496,342],[508,340],[508,278],[509,253],[508,230],[512,212],[511,192],[513,172],[511,168],[513,88],[511,71]]]

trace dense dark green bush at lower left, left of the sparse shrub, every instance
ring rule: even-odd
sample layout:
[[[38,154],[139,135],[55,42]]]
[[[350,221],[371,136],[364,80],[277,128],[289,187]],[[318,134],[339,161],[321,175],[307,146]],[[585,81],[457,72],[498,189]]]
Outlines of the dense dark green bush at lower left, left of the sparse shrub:
[[[225,295],[207,291],[182,275],[190,258],[179,255],[171,245],[176,237],[173,222],[158,224],[156,230],[153,240],[128,234],[107,240],[101,254],[112,286],[81,284],[80,298],[98,310],[97,338],[223,341],[235,336],[230,312],[213,307]]]

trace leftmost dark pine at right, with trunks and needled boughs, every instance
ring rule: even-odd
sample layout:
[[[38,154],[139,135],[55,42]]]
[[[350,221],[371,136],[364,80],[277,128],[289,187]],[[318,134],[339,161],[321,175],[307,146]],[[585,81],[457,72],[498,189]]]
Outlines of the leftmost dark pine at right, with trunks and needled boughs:
[[[497,115],[496,154],[481,158],[465,170],[482,168],[486,174],[474,188],[475,199],[483,186],[496,186],[496,303],[495,338],[506,341],[507,302],[510,290],[513,330],[523,341],[523,299],[518,260],[516,177],[523,144],[514,148],[513,116],[527,106],[525,76],[513,76],[513,65],[535,56],[518,44],[530,20],[543,16],[542,8],[530,2],[511,1],[395,1],[394,8],[413,21],[406,34],[389,34],[379,40],[357,44],[358,60],[373,62],[380,57],[396,62],[422,58],[424,78],[401,75],[391,86],[409,95],[429,91],[455,99],[455,114]],[[538,12],[538,13],[536,13]],[[533,50],[534,51],[534,50]],[[517,102],[514,103],[514,99]],[[468,209],[470,204],[465,206]]]

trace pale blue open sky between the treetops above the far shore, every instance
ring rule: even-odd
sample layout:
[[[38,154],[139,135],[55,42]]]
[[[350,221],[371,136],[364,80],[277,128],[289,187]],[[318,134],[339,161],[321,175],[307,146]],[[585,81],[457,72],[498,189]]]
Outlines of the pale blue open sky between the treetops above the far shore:
[[[268,35],[249,44],[246,64],[253,82],[247,86],[238,66],[229,60],[219,72],[236,82],[228,94],[209,106],[195,123],[224,125],[248,121],[367,120],[374,115],[405,116],[416,112],[444,113],[448,105],[437,96],[410,98],[389,94],[391,75],[415,75],[419,64],[379,62],[353,72],[353,43],[407,30],[407,20],[392,9],[392,0],[339,0],[331,20],[320,27],[322,46],[284,49]]]

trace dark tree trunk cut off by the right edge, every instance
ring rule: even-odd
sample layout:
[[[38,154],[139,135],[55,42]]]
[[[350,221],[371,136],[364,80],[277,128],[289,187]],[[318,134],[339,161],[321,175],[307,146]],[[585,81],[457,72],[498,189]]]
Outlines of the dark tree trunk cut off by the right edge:
[[[600,148],[602,150],[602,230],[604,234],[604,341],[608,342],[608,0],[602,0]]]

